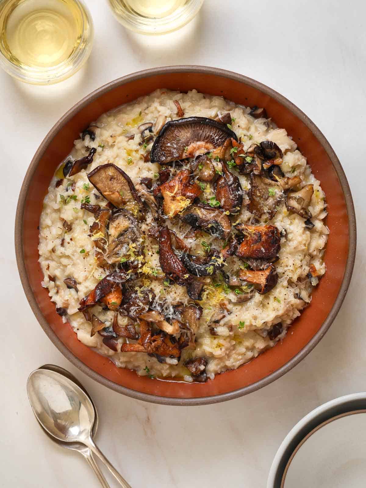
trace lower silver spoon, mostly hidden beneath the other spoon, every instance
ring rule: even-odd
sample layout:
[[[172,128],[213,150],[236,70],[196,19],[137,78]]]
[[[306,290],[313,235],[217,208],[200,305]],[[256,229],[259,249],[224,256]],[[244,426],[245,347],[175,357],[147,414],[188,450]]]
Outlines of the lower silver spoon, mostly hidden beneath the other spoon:
[[[96,434],[96,429],[98,428],[98,413],[96,411],[96,407],[94,405],[93,399],[89,396],[89,393],[86,391],[86,389],[84,388],[84,386],[81,385],[81,383],[77,380],[77,378],[75,378],[75,376],[73,374],[71,374],[69,371],[67,371],[66,369],[64,369],[61,366],[47,364],[47,365],[39,366],[38,369],[48,369],[50,371],[55,371],[56,373],[62,374],[66,378],[69,378],[70,381],[73,381],[74,383],[76,383],[77,386],[79,386],[88,395],[88,397],[90,398],[90,401],[93,404],[94,411],[95,411],[95,421],[94,421],[94,424],[93,424],[93,427],[92,427],[92,434],[94,436]],[[75,451],[80,452],[80,454],[82,454],[84,456],[84,458],[86,459],[86,461],[88,462],[88,464],[91,466],[91,468],[96,473],[96,477],[98,478],[101,486],[103,488],[110,488],[110,486],[107,483],[107,480],[105,479],[103,473],[100,471],[98,465],[96,464],[96,462],[94,460],[94,457],[93,457],[93,454],[92,454],[92,451],[89,449],[89,447],[85,447],[83,444],[80,444],[79,442],[63,442],[63,441],[59,441],[58,439],[56,439],[56,437],[52,436],[47,430],[45,430],[45,428],[42,426],[42,424],[39,424],[39,426],[41,427],[41,429],[43,430],[43,432],[53,442],[55,442],[56,444],[58,444],[58,446],[66,447],[66,449],[73,449]]]

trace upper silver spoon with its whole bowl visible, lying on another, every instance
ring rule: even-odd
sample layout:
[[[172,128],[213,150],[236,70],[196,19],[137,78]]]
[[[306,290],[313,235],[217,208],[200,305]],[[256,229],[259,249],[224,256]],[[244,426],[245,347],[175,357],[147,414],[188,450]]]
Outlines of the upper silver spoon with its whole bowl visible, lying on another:
[[[89,447],[123,488],[131,488],[93,441],[95,410],[83,389],[56,371],[36,369],[29,375],[27,391],[37,420],[50,435]]]

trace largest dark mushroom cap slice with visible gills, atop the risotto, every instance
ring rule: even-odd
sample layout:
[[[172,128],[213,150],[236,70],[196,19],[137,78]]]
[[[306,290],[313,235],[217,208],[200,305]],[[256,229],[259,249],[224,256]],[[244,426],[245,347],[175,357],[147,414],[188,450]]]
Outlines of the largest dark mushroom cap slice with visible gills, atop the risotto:
[[[167,122],[155,139],[151,162],[168,164],[205,154],[236,134],[227,125],[206,117],[188,117]]]

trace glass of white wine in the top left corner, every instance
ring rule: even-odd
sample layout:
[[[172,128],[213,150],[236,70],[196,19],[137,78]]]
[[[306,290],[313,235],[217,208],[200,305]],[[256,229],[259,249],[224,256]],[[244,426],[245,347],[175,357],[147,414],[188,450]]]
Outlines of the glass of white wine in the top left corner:
[[[20,81],[69,78],[88,59],[93,36],[80,0],[0,0],[0,66]]]

